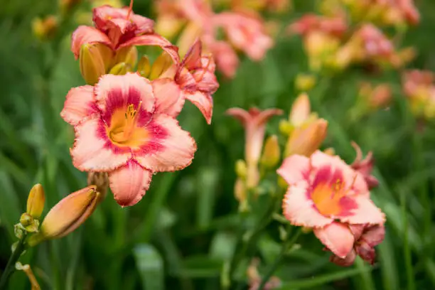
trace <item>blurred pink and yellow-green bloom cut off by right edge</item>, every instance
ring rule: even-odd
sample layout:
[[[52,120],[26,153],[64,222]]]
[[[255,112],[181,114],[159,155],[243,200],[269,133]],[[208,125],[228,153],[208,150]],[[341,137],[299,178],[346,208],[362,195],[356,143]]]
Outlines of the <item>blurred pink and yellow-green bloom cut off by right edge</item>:
[[[404,95],[417,117],[435,117],[435,75],[424,70],[410,70],[402,75]]]

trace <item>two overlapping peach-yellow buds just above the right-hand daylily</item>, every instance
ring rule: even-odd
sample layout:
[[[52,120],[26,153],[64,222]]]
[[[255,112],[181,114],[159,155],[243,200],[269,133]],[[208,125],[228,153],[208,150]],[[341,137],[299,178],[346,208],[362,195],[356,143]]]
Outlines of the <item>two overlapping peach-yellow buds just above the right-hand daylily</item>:
[[[310,156],[326,138],[328,122],[311,113],[310,101],[306,94],[299,95],[295,100],[289,116],[289,125],[289,139],[284,156]]]

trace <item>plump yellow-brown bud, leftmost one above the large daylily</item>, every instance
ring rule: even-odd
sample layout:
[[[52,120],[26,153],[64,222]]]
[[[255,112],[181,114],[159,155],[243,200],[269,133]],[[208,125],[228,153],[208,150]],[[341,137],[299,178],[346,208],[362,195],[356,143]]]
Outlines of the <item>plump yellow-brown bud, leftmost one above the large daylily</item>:
[[[84,44],[80,48],[80,73],[88,85],[95,85],[106,73],[104,60],[96,45]]]

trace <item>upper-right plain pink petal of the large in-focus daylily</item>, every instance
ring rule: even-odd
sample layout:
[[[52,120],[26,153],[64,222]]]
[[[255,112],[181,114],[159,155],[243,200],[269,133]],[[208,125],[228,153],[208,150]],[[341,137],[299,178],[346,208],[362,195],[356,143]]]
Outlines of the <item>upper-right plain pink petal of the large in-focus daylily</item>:
[[[184,97],[178,85],[169,78],[159,78],[152,82],[156,110],[154,114],[168,114],[177,117],[184,105]]]

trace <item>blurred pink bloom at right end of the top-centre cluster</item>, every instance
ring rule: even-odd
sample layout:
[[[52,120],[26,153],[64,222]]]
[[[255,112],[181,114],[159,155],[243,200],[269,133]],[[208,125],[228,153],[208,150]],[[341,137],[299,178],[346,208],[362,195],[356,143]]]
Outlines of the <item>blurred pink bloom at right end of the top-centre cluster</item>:
[[[274,42],[264,32],[264,23],[258,18],[241,13],[222,12],[212,19],[217,27],[222,27],[235,48],[244,51],[252,60],[262,60]]]

